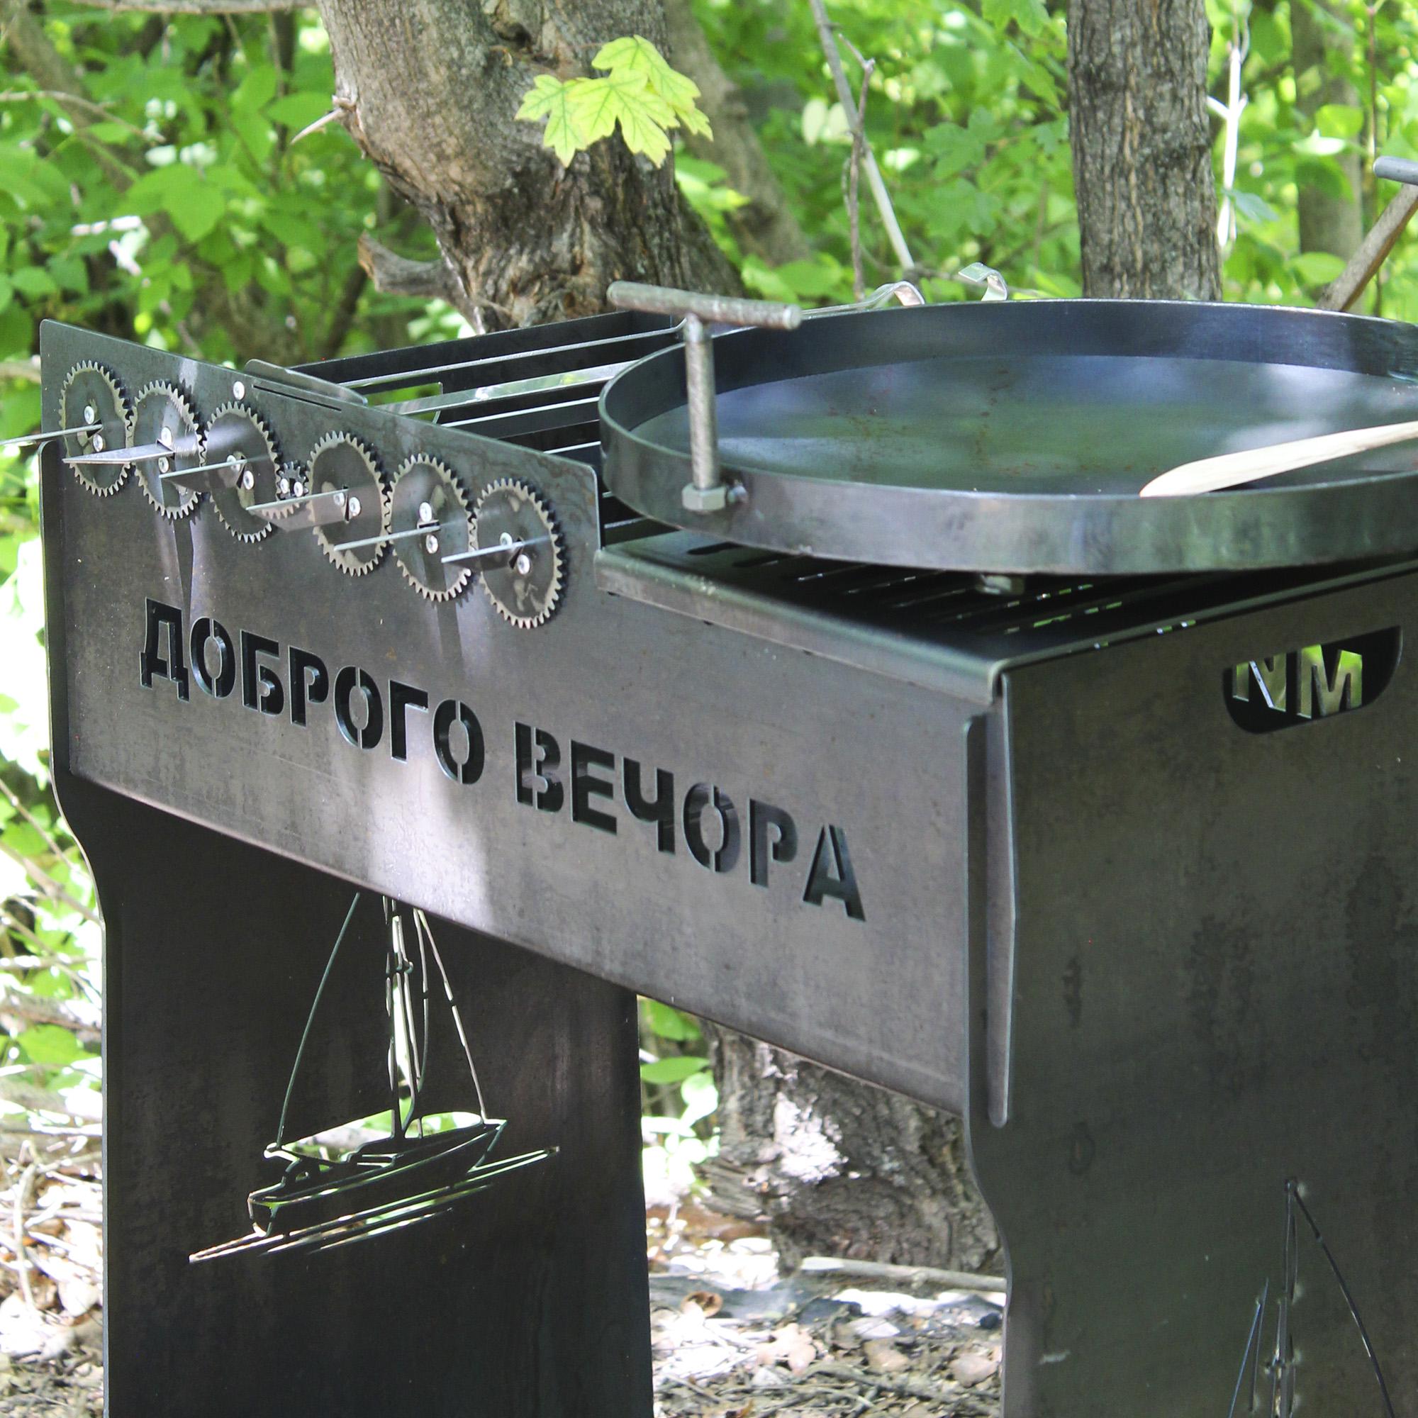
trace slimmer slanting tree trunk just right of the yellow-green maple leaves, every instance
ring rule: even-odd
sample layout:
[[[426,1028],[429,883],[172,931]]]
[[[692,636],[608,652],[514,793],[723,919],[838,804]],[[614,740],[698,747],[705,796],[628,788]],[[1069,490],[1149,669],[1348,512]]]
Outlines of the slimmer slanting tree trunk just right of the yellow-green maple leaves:
[[[743,95],[709,48],[689,0],[665,0],[665,17],[672,61],[699,85],[699,106],[713,125],[713,138],[691,135],[685,146],[695,157],[718,163],[729,186],[749,199],[727,214],[729,231],[744,252],[770,265],[807,259],[813,248],[788,210]]]

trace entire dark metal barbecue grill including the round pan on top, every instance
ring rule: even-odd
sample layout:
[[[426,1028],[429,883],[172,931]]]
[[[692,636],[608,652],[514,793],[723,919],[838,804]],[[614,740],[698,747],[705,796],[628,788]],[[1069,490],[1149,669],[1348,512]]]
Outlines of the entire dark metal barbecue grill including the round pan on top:
[[[1137,492],[1414,418],[1418,336],[623,296],[298,372],[43,332],[109,1414],[648,1415],[628,990],[964,1115],[1005,1418],[1411,1408],[1418,462]],[[414,908],[535,1166],[224,1244],[292,1056],[313,1130],[387,1049],[401,1143],[336,957]]]

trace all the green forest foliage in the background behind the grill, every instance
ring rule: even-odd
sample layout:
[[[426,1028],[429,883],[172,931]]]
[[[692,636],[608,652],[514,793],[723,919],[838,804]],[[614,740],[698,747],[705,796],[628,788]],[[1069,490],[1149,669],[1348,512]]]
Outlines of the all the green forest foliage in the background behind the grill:
[[[742,152],[702,135],[676,145],[681,191],[750,292],[851,299],[852,123],[807,0],[692,10],[781,207],[754,211],[727,177]],[[974,299],[954,274],[976,261],[1021,296],[1079,295],[1064,7],[835,0],[832,18],[854,85],[869,71],[866,135],[927,298]],[[1418,156],[1415,9],[1208,0],[1208,18],[1224,296],[1312,305],[1392,193],[1373,156]],[[218,362],[468,332],[437,298],[389,294],[389,254],[430,261],[435,241],[342,126],[294,140],[335,88],[313,10],[0,0],[0,440],[38,424],[43,319]],[[902,274],[865,197],[861,262],[866,285]],[[1418,244],[1361,308],[1418,316]],[[0,455],[0,1163],[33,1132],[99,1124],[99,929],[50,793],[37,523],[34,461]],[[679,1188],[713,1149],[705,1048],[652,1003],[642,1042],[652,1188]]]

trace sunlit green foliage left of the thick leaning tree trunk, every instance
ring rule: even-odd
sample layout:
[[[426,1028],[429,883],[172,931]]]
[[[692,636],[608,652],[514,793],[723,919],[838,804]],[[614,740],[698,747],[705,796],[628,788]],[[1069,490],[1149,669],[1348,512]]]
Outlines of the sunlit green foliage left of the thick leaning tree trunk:
[[[312,14],[57,9],[44,33],[77,98],[27,77],[0,38],[0,438],[40,421],[43,319],[218,362],[462,328],[444,306],[366,285],[360,233],[435,248],[349,138],[330,126],[291,142],[333,91]],[[62,1098],[98,1082],[99,932],[50,791],[37,519],[34,462],[0,455],[0,1161],[16,1115],[41,1127],[91,1117],[92,1102]],[[34,1112],[35,1088],[52,1107]]]

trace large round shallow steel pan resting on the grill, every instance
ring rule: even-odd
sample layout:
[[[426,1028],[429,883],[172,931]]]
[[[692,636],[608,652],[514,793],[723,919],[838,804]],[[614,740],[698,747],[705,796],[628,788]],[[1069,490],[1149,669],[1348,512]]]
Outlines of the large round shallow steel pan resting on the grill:
[[[1180,462],[1418,418],[1418,329],[1168,301],[936,305],[715,339],[742,501],[686,512],[681,349],[601,397],[605,481],[726,542],[889,566],[1147,574],[1418,547],[1418,444],[1139,498]]]

